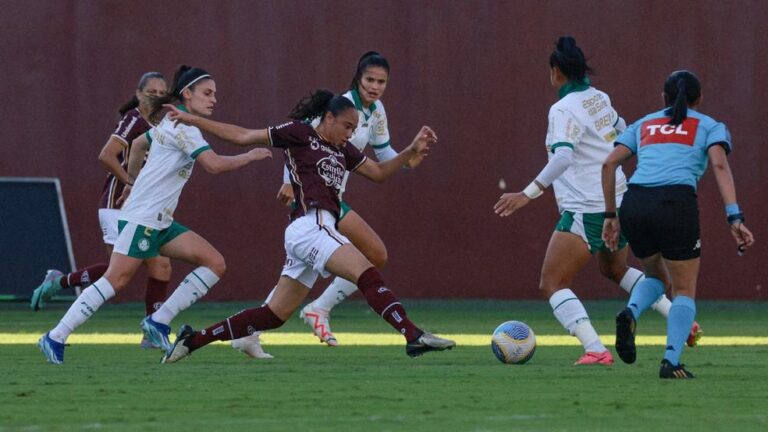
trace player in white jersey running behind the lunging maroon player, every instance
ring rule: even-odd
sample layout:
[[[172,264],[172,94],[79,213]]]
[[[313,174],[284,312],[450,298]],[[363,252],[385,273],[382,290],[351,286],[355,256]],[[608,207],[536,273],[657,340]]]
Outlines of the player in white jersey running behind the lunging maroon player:
[[[370,145],[379,162],[386,162],[397,156],[397,152],[390,145],[387,113],[381,102],[388,82],[389,61],[378,52],[369,51],[358,60],[350,89],[343,95],[354,103],[358,115],[357,129],[349,142],[361,152]],[[318,124],[319,119],[316,119],[313,126],[316,127]],[[422,160],[422,158],[414,158],[406,166],[415,168]],[[387,248],[376,231],[347,202],[343,201],[348,179],[349,172],[344,175],[341,187],[339,232],[344,234],[376,268],[381,269],[387,262]],[[284,171],[283,185],[277,194],[277,199],[285,205],[291,205],[293,202],[293,189],[287,169]],[[301,310],[300,317],[322,342],[329,346],[336,346],[338,341],[330,326],[331,309],[356,291],[355,284],[336,277],[317,299]],[[255,334],[234,340],[232,346],[251,357],[260,358],[263,351],[258,343],[258,337],[259,335]]]

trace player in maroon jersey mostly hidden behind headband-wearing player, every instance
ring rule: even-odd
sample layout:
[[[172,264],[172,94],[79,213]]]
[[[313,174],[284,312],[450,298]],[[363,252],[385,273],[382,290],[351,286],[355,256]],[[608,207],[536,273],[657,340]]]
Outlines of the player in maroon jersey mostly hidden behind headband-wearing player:
[[[166,93],[168,84],[163,74],[147,72],[142,75],[134,96],[120,107],[120,121],[99,154],[99,161],[108,170],[99,201],[99,223],[104,244],[107,246],[107,256],[112,255],[112,248],[117,239],[117,219],[123,204],[123,188],[125,185],[132,185],[134,181],[126,171],[131,144],[152,127],[147,121],[151,109],[150,98],[162,97]],[[148,259],[144,263],[148,273],[145,306],[147,314],[150,314],[165,300],[168,280],[171,278],[171,263],[168,258],[162,256]],[[48,270],[43,283],[32,294],[30,307],[35,311],[41,309],[45,302],[64,288],[87,287],[98,280],[106,270],[106,263],[93,264],[67,274]],[[146,340],[142,340],[141,346],[153,347]]]

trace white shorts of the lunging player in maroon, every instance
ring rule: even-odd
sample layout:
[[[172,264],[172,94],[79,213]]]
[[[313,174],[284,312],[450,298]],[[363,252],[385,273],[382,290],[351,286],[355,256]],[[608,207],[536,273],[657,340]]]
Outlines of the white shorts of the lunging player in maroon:
[[[287,276],[312,288],[318,276],[331,274],[325,264],[336,249],[349,243],[335,227],[336,218],[327,210],[310,209],[285,229],[285,265],[281,276]]]

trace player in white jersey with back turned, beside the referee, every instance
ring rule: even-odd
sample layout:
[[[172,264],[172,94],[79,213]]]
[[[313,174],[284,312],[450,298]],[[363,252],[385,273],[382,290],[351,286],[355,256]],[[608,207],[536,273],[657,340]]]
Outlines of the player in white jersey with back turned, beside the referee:
[[[600,342],[584,305],[570,287],[592,255],[597,255],[600,272],[627,292],[644,277],[640,270],[627,266],[623,238],[616,251],[609,250],[601,239],[606,216],[601,166],[613,149],[617,132],[626,124],[611,106],[608,95],[590,86],[587,73],[591,69],[572,37],[559,38],[549,65],[550,82],[560,96],[549,110],[549,162],[525,190],[503,194],[494,210],[502,217],[509,216],[539,197],[548,186],[554,186],[561,218],[547,247],[539,290],[549,300],[555,318],[584,347],[584,355],[575,364],[611,365],[613,356]],[[626,188],[619,167],[619,205]],[[666,318],[669,299],[663,296],[654,308]]]

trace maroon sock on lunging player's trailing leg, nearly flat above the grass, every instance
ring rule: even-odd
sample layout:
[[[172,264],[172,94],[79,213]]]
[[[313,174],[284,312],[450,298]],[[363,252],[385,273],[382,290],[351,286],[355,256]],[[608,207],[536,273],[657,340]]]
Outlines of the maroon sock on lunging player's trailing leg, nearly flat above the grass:
[[[268,306],[246,309],[195,332],[184,344],[191,352],[213,341],[240,339],[257,331],[278,328],[284,322]]]

